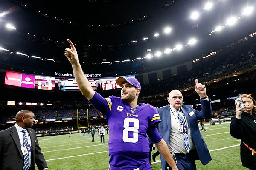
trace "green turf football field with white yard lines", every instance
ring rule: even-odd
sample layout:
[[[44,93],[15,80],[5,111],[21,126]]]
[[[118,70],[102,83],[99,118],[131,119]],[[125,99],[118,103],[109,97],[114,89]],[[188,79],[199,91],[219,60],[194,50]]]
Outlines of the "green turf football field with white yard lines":
[[[201,128],[201,126],[198,126]],[[240,161],[240,140],[230,136],[230,122],[205,123],[207,132],[202,135],[212,156],[212,161],[202,165],[196,161],[198,170],[247,170]],[[100,137],[80,136],[79,133],[38,137],[49,170],[108,170],[108,138],[100,143]],[[153,153],[156,150],[153,150]],[[160,156],[152,162],[154,170],[161,170]],[[36,168],[38,170],[38,168]]]

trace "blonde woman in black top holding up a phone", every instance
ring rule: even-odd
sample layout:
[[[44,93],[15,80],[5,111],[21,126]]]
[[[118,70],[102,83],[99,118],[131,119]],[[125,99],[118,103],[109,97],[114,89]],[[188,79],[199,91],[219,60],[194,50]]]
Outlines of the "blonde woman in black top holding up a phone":
[[[230,135],[241,139],[242,165],[250,170],[256,170],[256,102],[248,94],[239,94],[238,97],[244,106],[240,106],[242,103],[236,104],[236,115],[230,123]]]

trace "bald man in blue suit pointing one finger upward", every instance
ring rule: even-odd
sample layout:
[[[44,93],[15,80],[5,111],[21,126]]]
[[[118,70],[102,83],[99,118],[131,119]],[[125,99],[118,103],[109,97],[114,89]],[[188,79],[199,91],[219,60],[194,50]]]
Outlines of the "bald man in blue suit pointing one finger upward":
[[[162,120],[157,129],[169,146],[170,152],[174,153],[172,155],[179,170],[196,170],[195,160],[198,159],[203,165],[212,160],[198,127],[198,120],[212,118],[211,101],[206,95],[205,86],[198,83],[197,79],[195,91],[200,97],[202,111],[196,111],[190,105],[182,105],[183,96],[179,90],[169,93],[168,105],[157,108]],[[162,170],[169,167],[162,156],[161,164]]]

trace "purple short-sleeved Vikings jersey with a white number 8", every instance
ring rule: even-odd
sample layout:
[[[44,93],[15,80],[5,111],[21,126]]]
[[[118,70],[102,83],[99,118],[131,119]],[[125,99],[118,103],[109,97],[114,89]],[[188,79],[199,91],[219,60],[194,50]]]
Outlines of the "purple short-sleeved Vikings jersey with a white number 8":
[[[108,120],[109,163],[115,167],[136,168],[149,159],[147,129],[161,122],[157,109],[140,103],[132,108],[120,97],[110,96],[103,102],[96,93],[90,102]],[[105,108],[102,106],[105,105]]]

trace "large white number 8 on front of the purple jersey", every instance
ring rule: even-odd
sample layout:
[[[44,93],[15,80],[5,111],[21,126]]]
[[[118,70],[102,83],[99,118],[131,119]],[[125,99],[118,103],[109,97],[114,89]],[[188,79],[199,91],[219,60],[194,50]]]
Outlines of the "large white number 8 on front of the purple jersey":
[[[129,122],[134,122],[134,127],[129,126]],[[140,121],[136,118],[127,117],[124,120],[124,130],[123,130],[123,141],[129,142],[129,143],[136,143],[139,140],[139,129],[140,127]],[[133,137],[129,138],[128,134],[130,132],[133,132]]]

